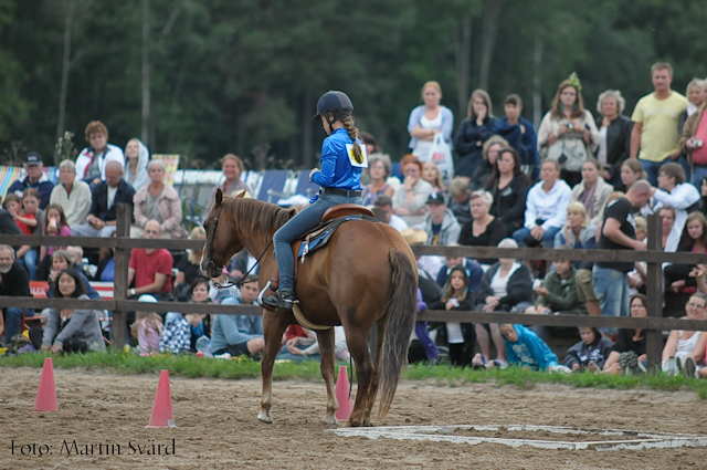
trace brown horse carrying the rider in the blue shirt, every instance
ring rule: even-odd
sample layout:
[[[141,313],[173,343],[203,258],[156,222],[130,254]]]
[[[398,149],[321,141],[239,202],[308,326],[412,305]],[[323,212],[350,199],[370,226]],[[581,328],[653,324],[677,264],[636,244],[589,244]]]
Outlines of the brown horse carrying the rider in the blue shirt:
[[[260,271],[261,289],[277,275],[277,263],[270,247],[273,234],[293,216],[293,210],[217,191],[204,221],[207,243],[201,270],[211,278],[245,247],[253,255],[264,253]],[[366,220],[341,224],[329,243],[297,260],[299,242],[293,244],[296,260],[295,293],[306,322],[326,326],[317,331],[321,355],[321,376],[327,386],[325,424],[335,424],[338,403],[334,395],[334,328],[344,325],[346,341],[356,363],[358,391],[349,418],[350,426],[368,426],[380,386],[378,419],[388,412],[407,361],[408,344],[415,322],[418,272],[414,254],[402,236],[387,223]],[[273,365],[285,328],[297,323],[291,310],[263,311],[265,349],[262,410],[257,419],[272,422]],[[368,352],[368,333],[378,325],[376,364]]]

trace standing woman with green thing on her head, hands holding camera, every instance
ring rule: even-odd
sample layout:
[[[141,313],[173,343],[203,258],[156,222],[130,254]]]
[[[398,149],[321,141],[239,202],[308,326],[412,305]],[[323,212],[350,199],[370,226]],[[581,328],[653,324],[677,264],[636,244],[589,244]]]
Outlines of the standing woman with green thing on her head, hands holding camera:
[[[581,181],[582,165],[599,144],[599,130],[592,114],[584,109],[582,85],[577,74],[560,83],[552,109],[538,129],[538,149],[542,159],[560,164],[561,175],[568,185]]]

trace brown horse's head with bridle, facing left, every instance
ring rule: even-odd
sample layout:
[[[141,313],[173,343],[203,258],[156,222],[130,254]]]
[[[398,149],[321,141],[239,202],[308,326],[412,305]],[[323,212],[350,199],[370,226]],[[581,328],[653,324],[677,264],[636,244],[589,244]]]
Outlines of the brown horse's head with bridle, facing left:
[[[243,197],[241,194],[238,197]],[[207,241],[201,255],[201,271],[208,278],[221,275],[223,267],[229,262],[233,253],[243,249],[243,244],[235,238],[230,212],[223,212],[229,197],[224,196],[221,189],[217,189],[215,200],[211,207],[209,217],[203,222],[207,231]]]

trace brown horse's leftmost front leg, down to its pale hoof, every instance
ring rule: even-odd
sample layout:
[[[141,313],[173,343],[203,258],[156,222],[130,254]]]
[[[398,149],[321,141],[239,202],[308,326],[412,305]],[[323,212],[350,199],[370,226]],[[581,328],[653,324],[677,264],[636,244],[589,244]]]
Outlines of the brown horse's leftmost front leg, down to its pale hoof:
[[[283,333],[289,325],[291,315],[283,311],[263,312],[263,336],[265,348],[261,362],[261,375],[263,376],[263,395],[261,396],[261,412],[257,415],[258,421],[273,422],[270,409],[273,406],[273,367],[275,356],[282,345]]]

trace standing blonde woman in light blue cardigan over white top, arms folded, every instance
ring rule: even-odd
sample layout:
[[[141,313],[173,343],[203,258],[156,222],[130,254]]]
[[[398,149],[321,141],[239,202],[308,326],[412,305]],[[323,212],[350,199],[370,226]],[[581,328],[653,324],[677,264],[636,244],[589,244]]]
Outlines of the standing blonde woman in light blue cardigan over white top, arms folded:
[[[441,100],[442,87],[440,84],[435,81],[426,82],[422,86],[424,104],[412,109],[408,119],[408,133],[410,134],[408,146],[412,150],[412,155],[423,161],[430,159],[432,140],[436,134],[442,134],[447,144],[452,142],[454,114],[452,109],[440,104]]]

